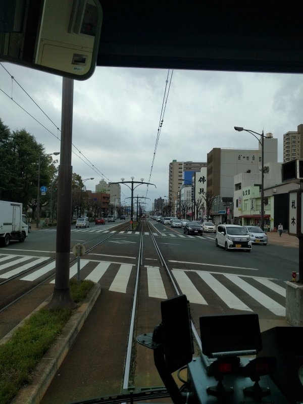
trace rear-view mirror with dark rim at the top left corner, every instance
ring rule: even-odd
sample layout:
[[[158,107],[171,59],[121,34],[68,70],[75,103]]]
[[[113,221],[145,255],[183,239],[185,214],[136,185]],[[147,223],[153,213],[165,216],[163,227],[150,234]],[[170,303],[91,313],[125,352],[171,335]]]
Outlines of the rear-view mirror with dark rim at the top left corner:
[[[95,69],[98,0],[0,0],[0,60],[77,80]]]

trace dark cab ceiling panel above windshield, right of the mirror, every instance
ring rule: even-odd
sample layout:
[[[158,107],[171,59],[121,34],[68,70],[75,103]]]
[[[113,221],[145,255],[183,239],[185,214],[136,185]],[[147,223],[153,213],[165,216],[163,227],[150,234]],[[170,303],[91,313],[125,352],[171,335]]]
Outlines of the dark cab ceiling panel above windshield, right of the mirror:
[[[303,1],[99,0],[98,66],[303,72]]]

